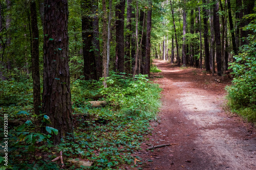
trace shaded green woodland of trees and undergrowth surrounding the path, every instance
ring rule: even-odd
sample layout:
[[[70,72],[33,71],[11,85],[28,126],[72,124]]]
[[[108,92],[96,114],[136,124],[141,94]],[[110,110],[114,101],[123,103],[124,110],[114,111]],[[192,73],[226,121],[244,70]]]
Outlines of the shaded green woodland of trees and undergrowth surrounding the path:
[[[31,159],[26,161],[31,167],[59,168],[44,161],[36,164],[46,155],[35,153],[46,152],[45,148],[59,152],[72,142],[87,151],[73,148],[66,156],[97,160],[95,169],[131,163],[130,151],[147,133],[146,120],[156,119],[161,105],[161,89],[150,82],[154,58],[205,69],[212,76],[232,72],[233,86],[227,87],[230,107],[250,108],[249,119],[254,120],[254,4],[254,0],[1,0],[1,115],[8,114],[10,121],[26,120],[10,125],[9,137],[17,141],[10,149],[17,157],[10,167],[29,153]],[[95,109],[88,101],[106,101],[107,107]],[[139,128],[139,123],[144,126]],[[103,131],[106,124],[111,124],[109,131],[121,128],[118,124],[123,124],[121,129],[137,128],[127,132],[136,136],[135,143],[125,134],[120,141],[97,143],[99,136],[93,131]],[[80,132],[91,139],[81,142]],[[127,147],[125,161],[110,149],[112,144]],[[111,154],[99,156],[99,145],[108,145]],[[114,153],[116,158],[111,157]]]

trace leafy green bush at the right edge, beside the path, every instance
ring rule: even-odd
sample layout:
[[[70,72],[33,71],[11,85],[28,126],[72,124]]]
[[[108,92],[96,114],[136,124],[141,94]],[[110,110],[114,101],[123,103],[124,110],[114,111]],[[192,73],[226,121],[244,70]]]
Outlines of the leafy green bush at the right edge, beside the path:
[[[250,28],[252,26],[250,25]],[[232,86],[228,91],[229,106],[234,112],[244,115],[248,120],[256,120],[256,37],[249,35],[249,44],[243,45],[240,53],[231,63]],[[250,110],[250,111],[249,111]]]

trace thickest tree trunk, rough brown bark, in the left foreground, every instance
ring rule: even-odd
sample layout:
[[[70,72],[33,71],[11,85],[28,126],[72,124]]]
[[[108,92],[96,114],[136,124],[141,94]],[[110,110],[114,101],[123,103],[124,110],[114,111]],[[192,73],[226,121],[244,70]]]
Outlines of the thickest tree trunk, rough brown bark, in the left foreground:
[[[54,144],[73,137],[69,75],[69,37],[67,0],[45,0],[44,92],[42,110],[58,129]]]

